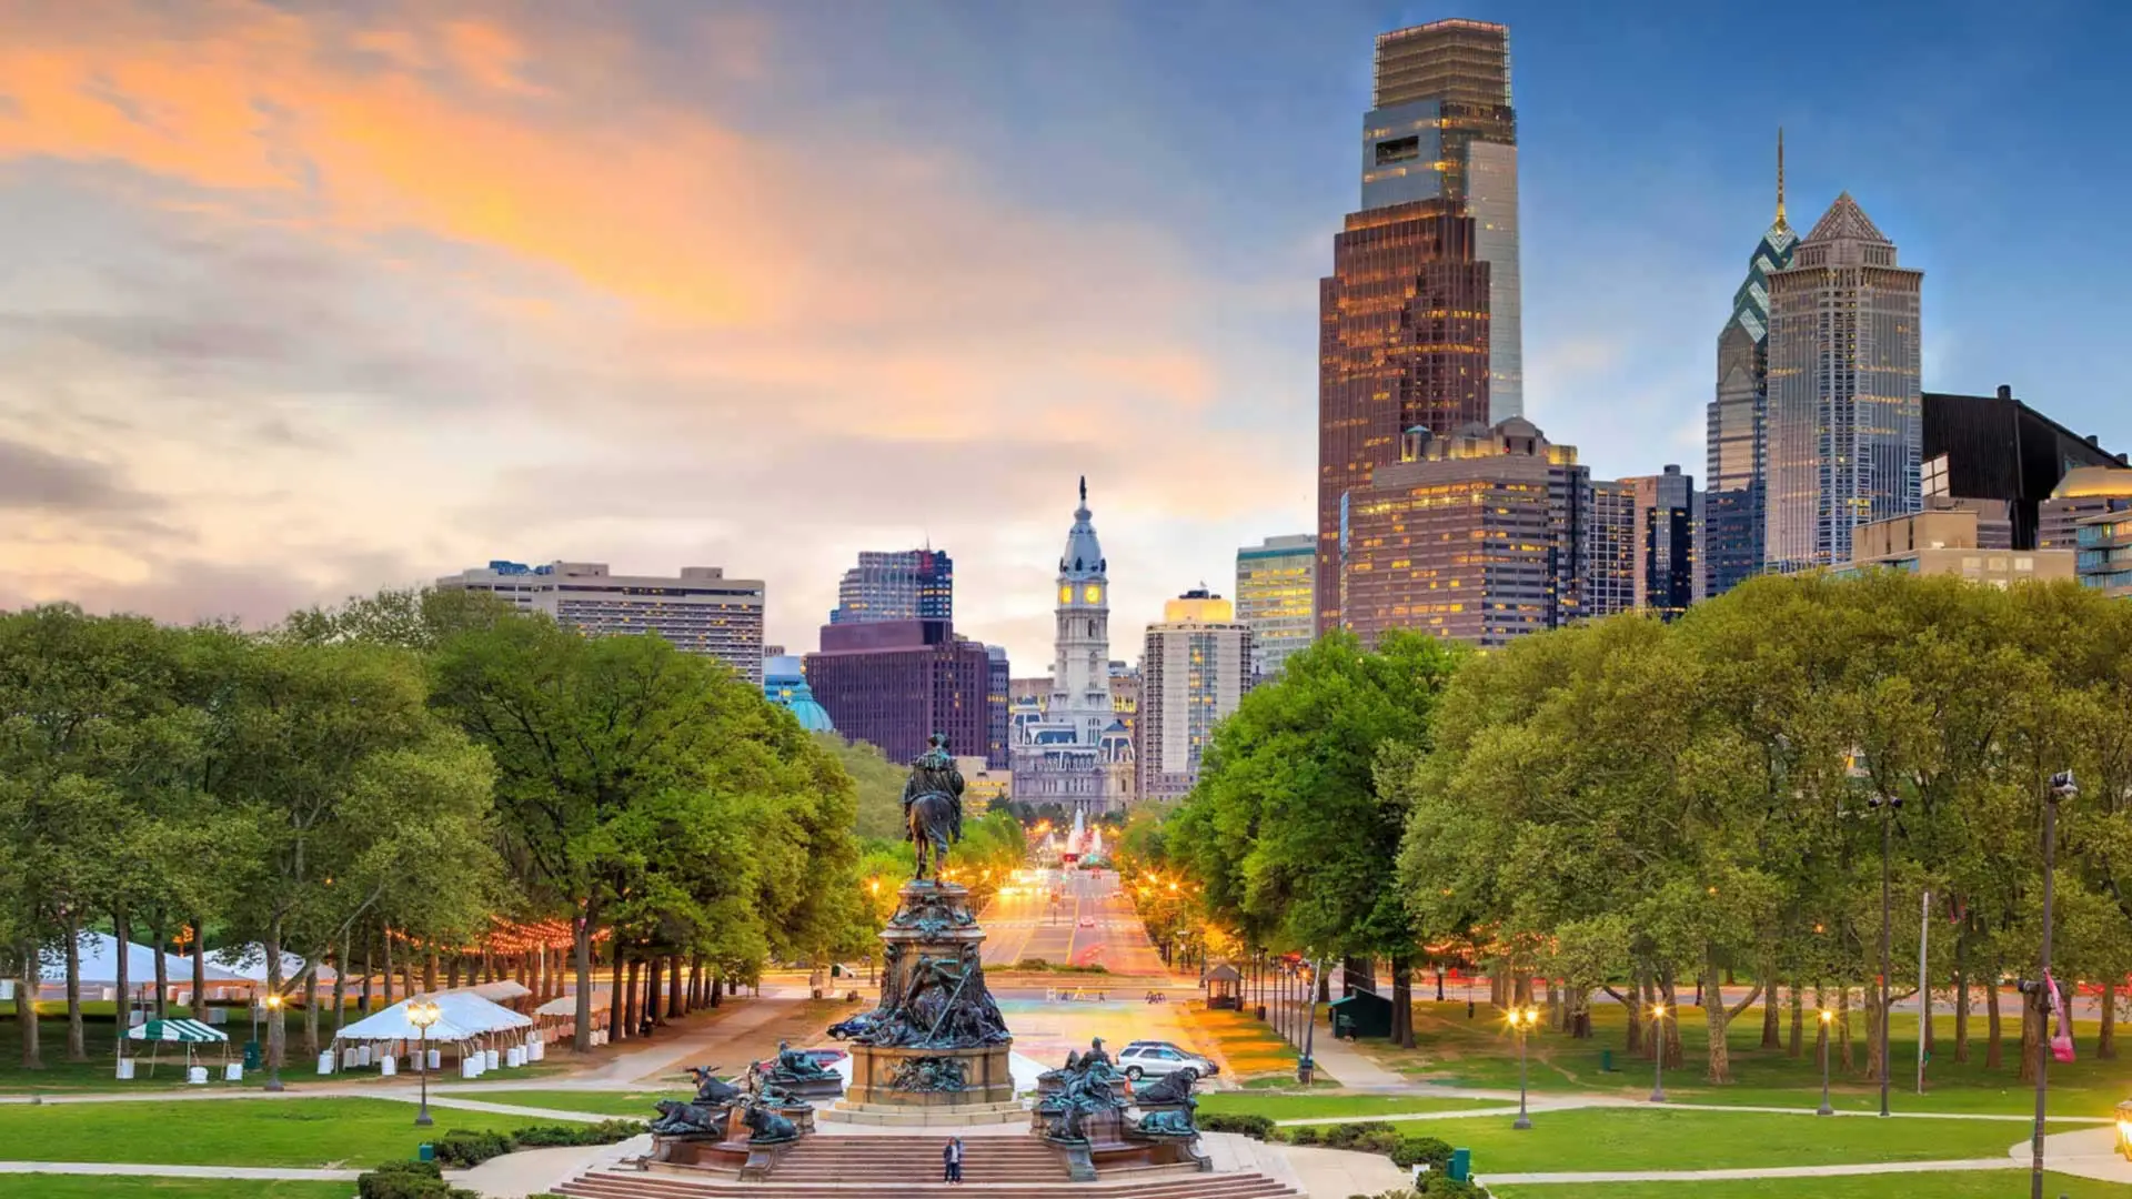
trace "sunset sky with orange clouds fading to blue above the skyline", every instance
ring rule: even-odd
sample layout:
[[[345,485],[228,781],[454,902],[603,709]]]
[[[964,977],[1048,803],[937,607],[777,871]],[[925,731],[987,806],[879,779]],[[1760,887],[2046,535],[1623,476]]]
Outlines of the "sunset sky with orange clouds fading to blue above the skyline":
[[[1703,467],[1784,126],[1925,271],[1925,388],[2132,448],[2132,4],[0,0],[0,608],[168,621],[488,559],[723,565],[806,651],[861,548],[1113,657],[1309,531],[1371,38],[1505,21],[1527,414]]]

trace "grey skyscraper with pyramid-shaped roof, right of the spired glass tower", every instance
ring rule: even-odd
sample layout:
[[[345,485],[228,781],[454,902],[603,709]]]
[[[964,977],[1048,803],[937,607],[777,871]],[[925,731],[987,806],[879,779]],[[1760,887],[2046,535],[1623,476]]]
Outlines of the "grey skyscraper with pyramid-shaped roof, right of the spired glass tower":
[[[1851,192],[1770,275],[1765,570],[1851,561],[1851,531],[1919,508],[1919,292]]]

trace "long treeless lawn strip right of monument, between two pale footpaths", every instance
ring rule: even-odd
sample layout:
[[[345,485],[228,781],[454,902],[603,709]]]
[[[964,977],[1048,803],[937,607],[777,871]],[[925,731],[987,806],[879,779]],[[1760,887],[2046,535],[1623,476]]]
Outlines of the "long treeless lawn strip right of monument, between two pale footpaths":
[[[1482,1178],[1524,1171],[1996,1158],[2028,1135],[2025,1126],[2010,1120],[1872,1120],[1665,1107],[1535,1112],[1527,1131],[1512,1129],[1509,1116],[1428,1120],[1401,1131],[1471,1148],[1473,1171]],[[2070,1126],[2051,1131],[2064,1133]]]

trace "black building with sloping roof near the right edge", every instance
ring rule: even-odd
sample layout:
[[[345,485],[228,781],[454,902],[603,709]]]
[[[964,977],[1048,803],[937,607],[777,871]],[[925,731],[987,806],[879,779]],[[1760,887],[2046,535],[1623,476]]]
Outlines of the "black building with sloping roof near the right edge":
[[[2098,437],[2083,437],[2015,399],[2006,384],[1993,395],[1927,390],[1921,452],[1923,495],[1996,503],[2010,525],[2013,548],[2023,550],[2038,548],[2042,506],[2068,471],[2126,465]]]

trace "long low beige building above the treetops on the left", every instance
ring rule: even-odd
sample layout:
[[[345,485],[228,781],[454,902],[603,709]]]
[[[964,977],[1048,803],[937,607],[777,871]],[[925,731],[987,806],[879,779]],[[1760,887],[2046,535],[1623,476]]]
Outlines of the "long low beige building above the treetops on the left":
[[[650,576],[610,574],[603,561],[490,561],[439,578],[437,589],[488,591],[520,612],[546,612],[593,638],[659,634],[674,649],[716,657],[748,683],[763,683],[763,582],[725,578],[725,567],[684,565],[680,576]]]

